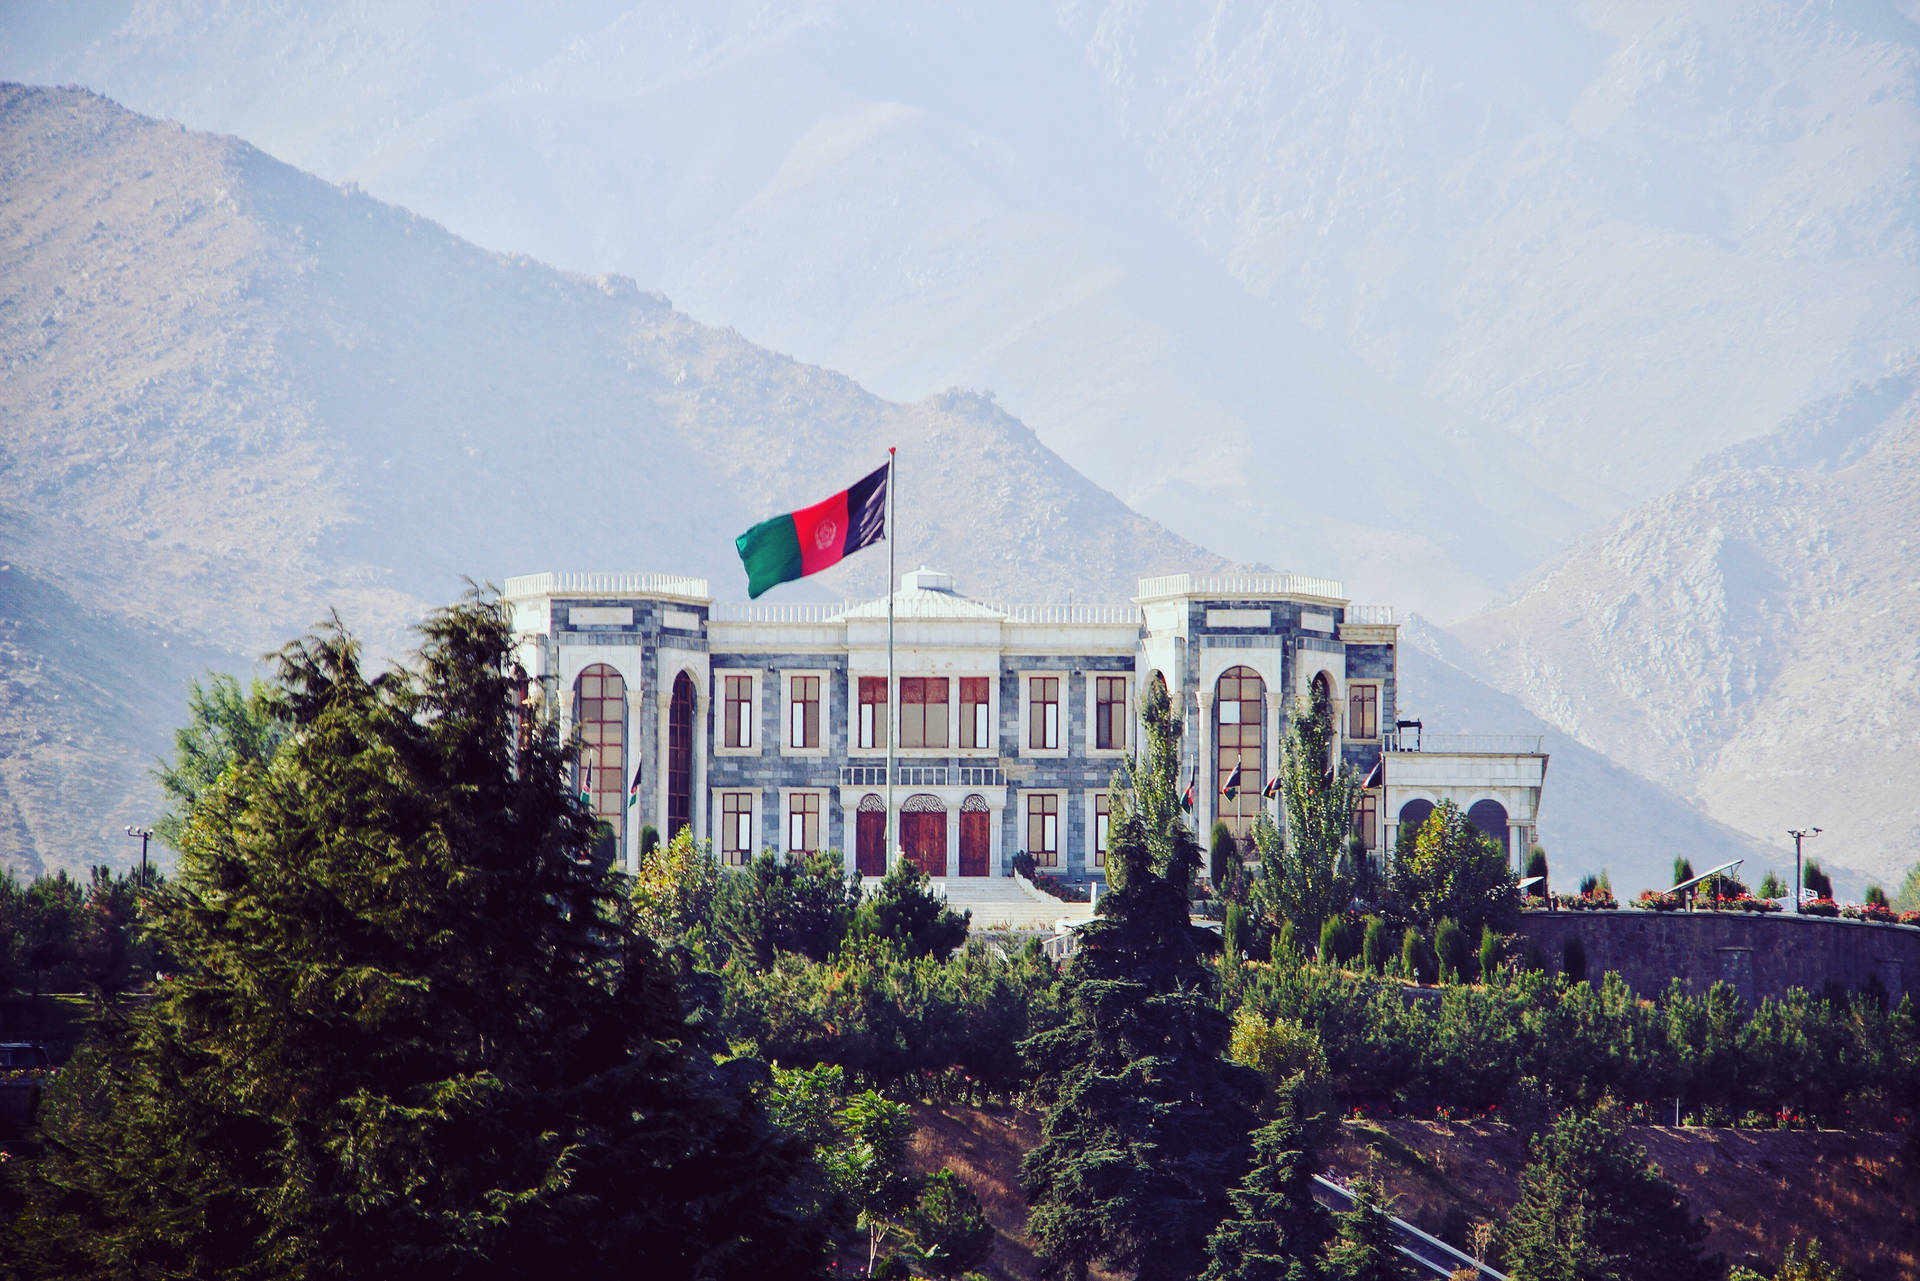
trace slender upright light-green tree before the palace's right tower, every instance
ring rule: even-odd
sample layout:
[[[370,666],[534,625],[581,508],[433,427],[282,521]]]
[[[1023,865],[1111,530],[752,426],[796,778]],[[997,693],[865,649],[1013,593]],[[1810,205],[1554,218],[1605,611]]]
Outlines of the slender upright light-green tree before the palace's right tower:
[[[1261,812],[1254,822],[1260,851],[1260,895],[1275,928],[1283,920],[1317,937],[1329,916],[1354,905],[1354,868],[1346,858],[1359,805],[1361,776],[1352,766],[1329,774],[1332,713],[1325,701],[1298,711],[1281,741],[1281,810],[1286,834]]]

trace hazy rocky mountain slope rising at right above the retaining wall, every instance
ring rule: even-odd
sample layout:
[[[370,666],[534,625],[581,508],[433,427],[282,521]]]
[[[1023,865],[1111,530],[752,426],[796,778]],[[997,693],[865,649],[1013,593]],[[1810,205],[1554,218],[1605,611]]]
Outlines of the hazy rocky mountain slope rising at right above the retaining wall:
[[[1920,371],[1730,449],[1452,632],[1490,682],[1768,841],[1920,858]]]

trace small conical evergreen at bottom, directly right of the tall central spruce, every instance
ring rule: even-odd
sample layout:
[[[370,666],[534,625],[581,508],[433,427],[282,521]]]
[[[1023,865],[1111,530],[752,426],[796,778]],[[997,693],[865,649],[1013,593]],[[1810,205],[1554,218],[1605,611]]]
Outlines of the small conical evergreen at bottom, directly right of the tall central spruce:
[[[1208,1239],[1202,1281],[1309,1281],[1332,1237],[1313,1200],[1319,1160],[1300,1122],[1296,1091],[1281,1091],[1279,1114],[1254,1131],[1254,1166],[1229,1193],[1233,1212]]]

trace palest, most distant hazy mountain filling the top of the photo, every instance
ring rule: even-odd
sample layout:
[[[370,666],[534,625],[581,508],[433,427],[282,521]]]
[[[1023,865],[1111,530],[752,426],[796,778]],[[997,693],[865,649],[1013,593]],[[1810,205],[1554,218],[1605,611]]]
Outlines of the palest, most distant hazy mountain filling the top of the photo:
[[[993,388],[1188,538],[1440,618],[1920,340],[1897,8],[50,13],[0,71],[883,394]]]

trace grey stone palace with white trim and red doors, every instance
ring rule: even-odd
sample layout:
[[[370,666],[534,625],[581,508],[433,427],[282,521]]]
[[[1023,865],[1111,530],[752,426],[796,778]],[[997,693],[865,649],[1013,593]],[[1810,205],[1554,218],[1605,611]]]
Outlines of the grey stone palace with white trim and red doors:
[[[1004,605],[948,574],[904,574],[847,605],[714,601],[703,578],[507,580],[530,697],[580,739],[580,786],[632,868],[639,830],[691,826],[724,862],[839,849],[885,872],[887,743],[897,847],[933,876],[1006,876],[1018,851],[1104,878],[1108,782],[1164,680],[1187,716],[1181,780],[1202,841],[1248,839],[1286,718],[1315,693],[1336,755],[1367,778],[1356,830],[1392,849],[1442,799],[1515,862],[1534,841],[1548,759],[1530,736],[1444,736],[1402,713],[1390,607],[1302,574],[1144,578],[1112,605]]]

